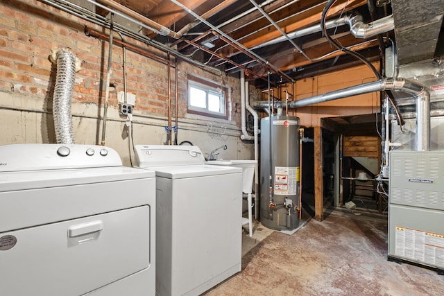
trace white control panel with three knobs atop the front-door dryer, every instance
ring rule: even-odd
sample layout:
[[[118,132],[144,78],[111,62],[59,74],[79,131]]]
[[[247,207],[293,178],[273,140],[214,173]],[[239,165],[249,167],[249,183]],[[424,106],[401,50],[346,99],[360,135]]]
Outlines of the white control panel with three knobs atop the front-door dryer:
[[[0,146],[0,172],[122,166],[112,148],[83,144],[12,144]]]

